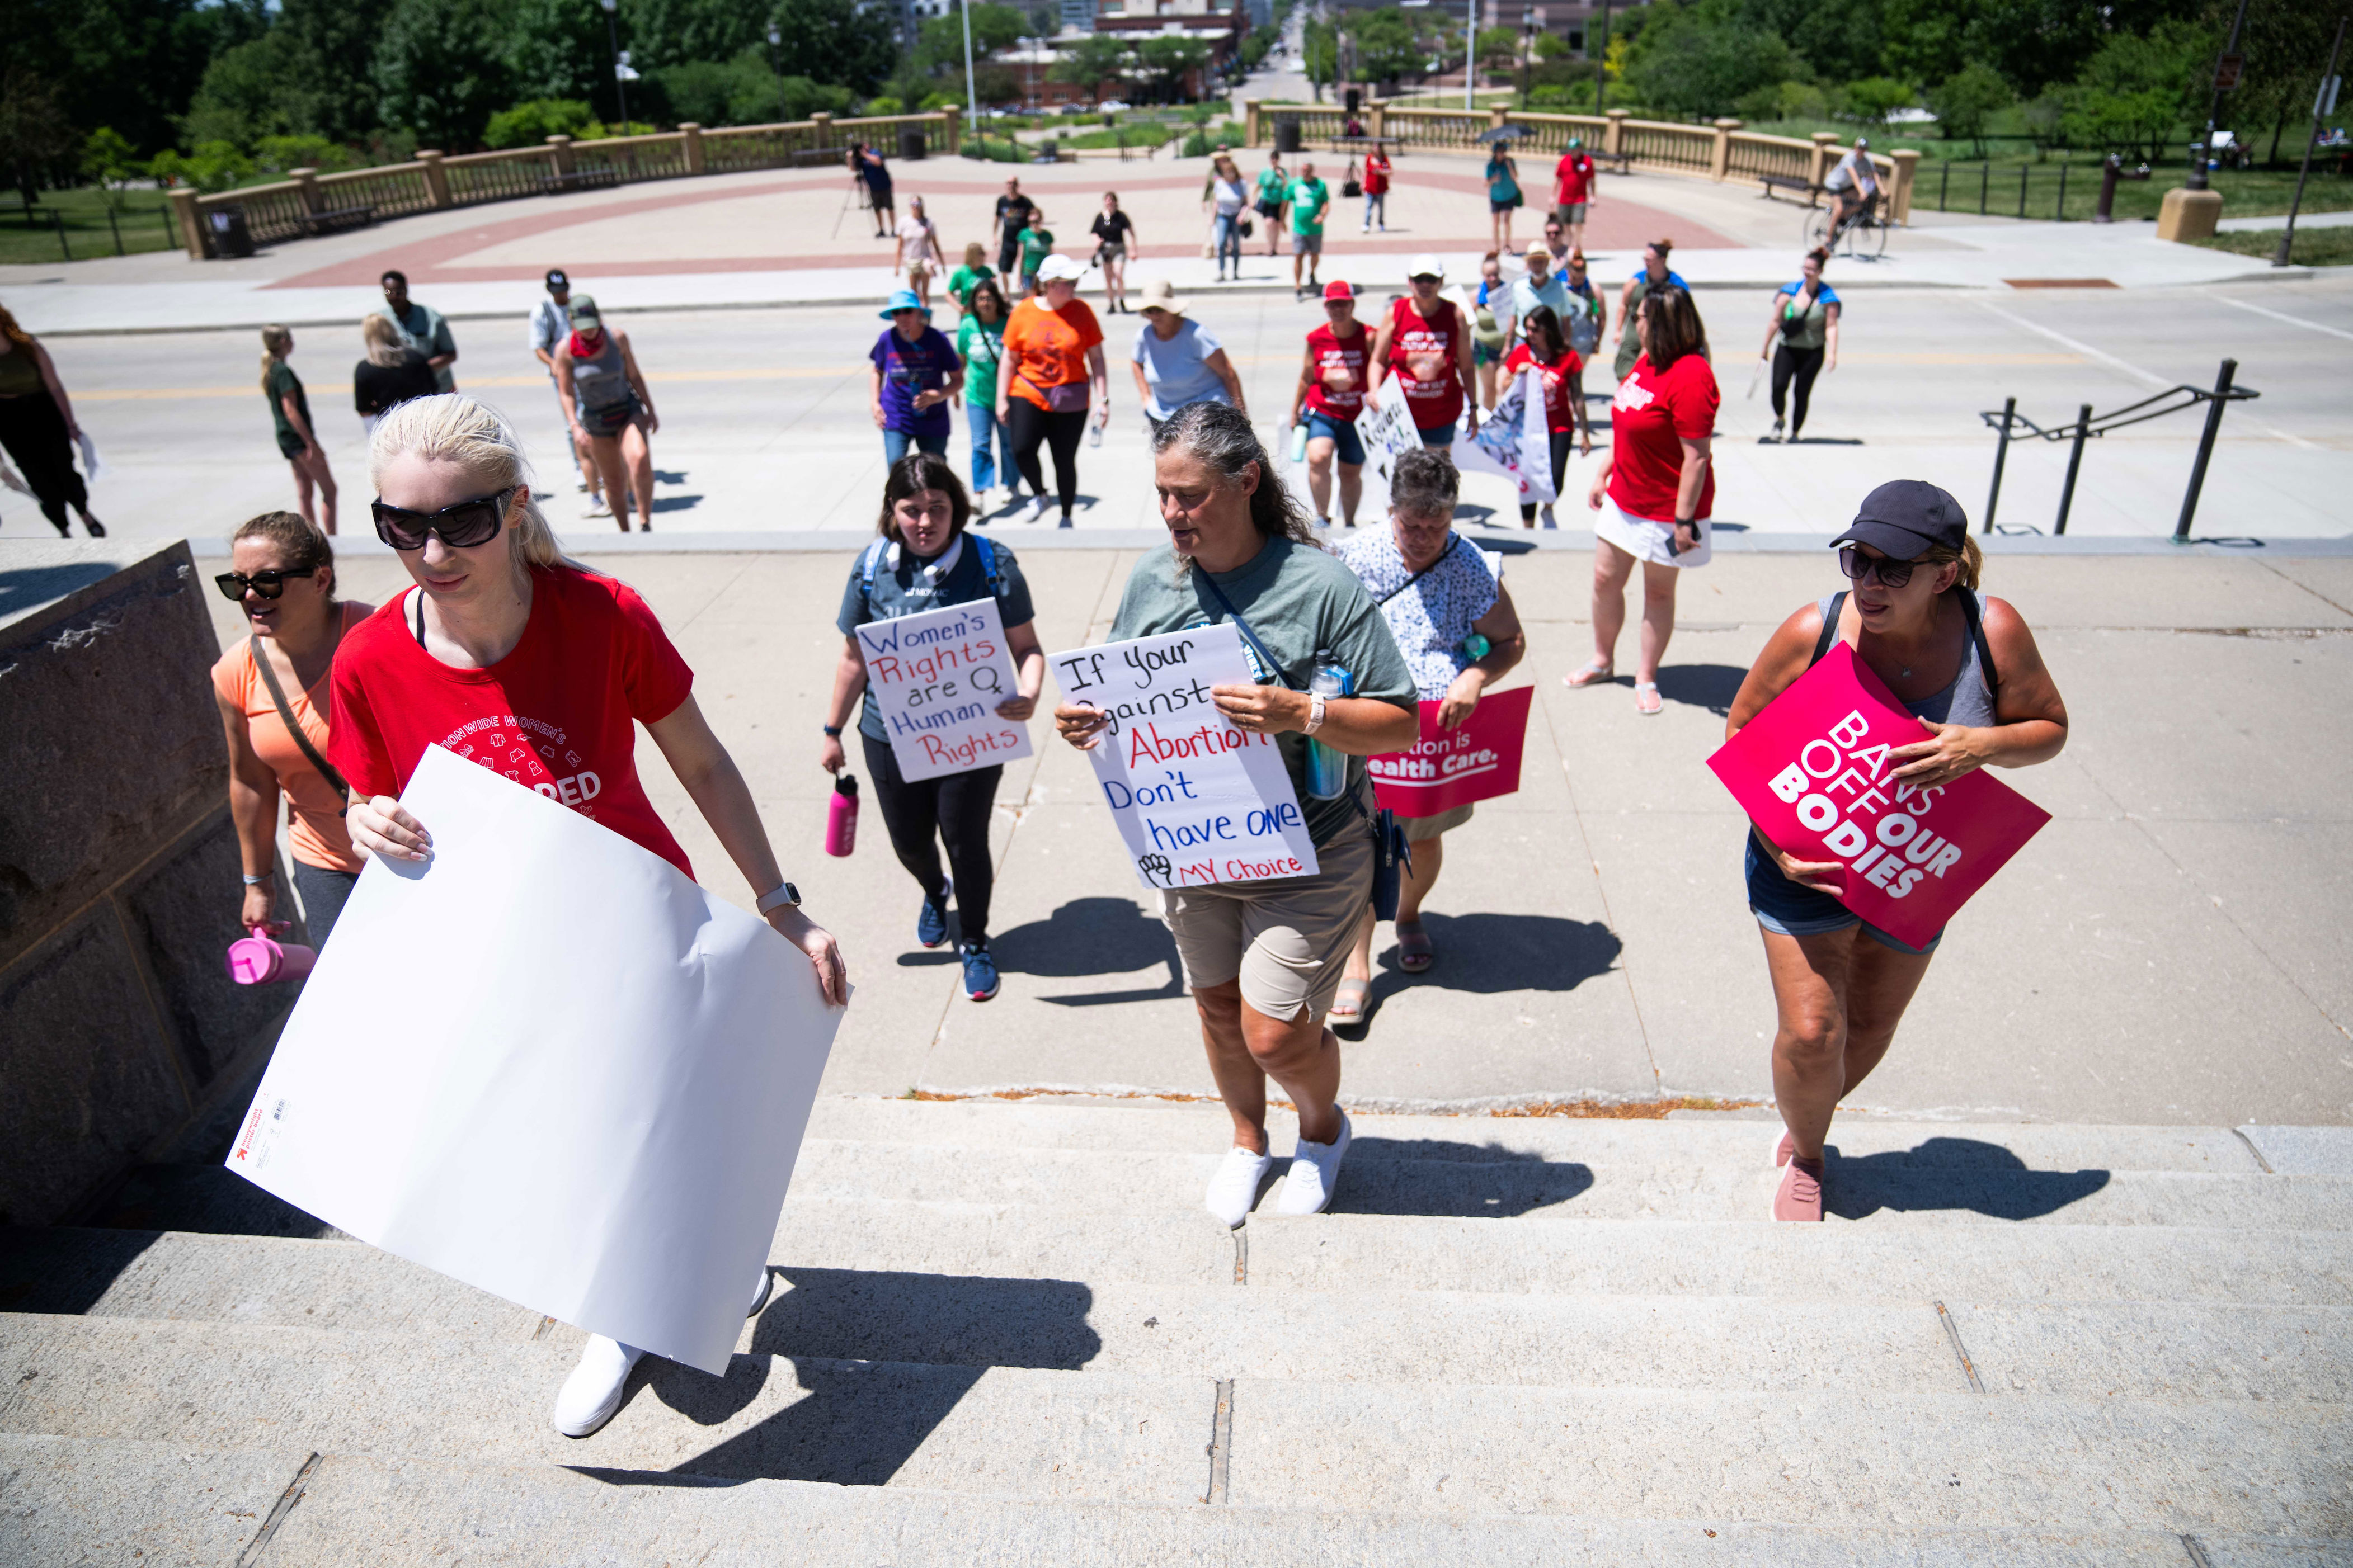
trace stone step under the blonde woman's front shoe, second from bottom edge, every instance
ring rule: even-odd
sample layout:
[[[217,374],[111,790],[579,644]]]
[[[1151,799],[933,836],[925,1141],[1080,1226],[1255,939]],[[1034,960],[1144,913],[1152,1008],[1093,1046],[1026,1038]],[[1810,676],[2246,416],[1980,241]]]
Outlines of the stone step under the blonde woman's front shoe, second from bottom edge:
[[[0,1427],[191,1448],[593,1465],[1031,1502],[1892,1530],[2337,1535],[2341,1408],[1979,1394],[1435,1387],[739,1356],[640,1373],[595,1439],[546,1425],[562,1347],[106,1319],[0,1321]]]

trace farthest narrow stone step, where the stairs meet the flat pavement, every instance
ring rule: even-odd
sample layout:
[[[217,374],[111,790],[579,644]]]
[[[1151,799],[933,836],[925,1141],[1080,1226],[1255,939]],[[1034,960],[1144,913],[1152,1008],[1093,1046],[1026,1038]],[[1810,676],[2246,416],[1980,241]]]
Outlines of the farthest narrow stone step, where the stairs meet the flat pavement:
[[[1755,1164],[1779,1138],[1732,1117],[1386,1117],[1351,1112],[1355,1152],[1372,1159]],[[1268,1131],[1289,1152],[1299,1124],[1275,1110]],[[2282,1128],[2259,1128],[2282,1131]],[[2329,1133],[2337,1128],[2292,1128]],[[1221,1154],[1233,1121],[1214,1103],[1172,1100],[880,1100],[828,1095],[809,1114],[809,1138],[838,1143],[936,1143],[960,1150],[1096,1150],[1122,1154]],[[2259,1173],[2247,1143],[2224,1126],[2099,1126],[2038,1121],[1904,1121],[1842,1112],[1831,1147],[1880,1166],[1984,1166],[2035,1171]],[[1355,1154],[1351,1154],[1353,1159]],[[2280,1166],[2280,1161],[2273,1161]],[[2285,1166],[2282,1166],[2285,1168]],[[2299,1173],[2332,1173],[2322,1168]],[[2334,1171],[2344,1175],[2346,1171]]]

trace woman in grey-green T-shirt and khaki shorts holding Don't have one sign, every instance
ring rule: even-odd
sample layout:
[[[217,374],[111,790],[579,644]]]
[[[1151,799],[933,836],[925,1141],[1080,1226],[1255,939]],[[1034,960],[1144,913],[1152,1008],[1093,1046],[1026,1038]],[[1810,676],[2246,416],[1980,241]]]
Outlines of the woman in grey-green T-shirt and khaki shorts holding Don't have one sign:
[[[1242,1225],[1257,1206],[1273,1166],[1271,1077],[1299,1107],[1299,1147],[1275,1208],[1320,1213],[1348,1152],[1339,1039],[1325,1018],[1372,903],[1365,757],[1414,745],[1421,689],[1355,571],[1315,543],[1242,409],[1176,409],[1153,433],[1153,482],[1169,543],[1146,550],[1127,576],[1111,639],[1247,625],[1242,646],[1259,684],[1219,684],[1209,701],[1245,736],[1273,736],[1315,844],[1315,870],[1304,877],[1160,889],[1209,1074],[1233,1117],[1233,1147],[1209,1178],[1205,1206],[1226,1225]],[[1308,691],[1325,658],[1355,677],[1348,696]],[[1089,705],[1054,710],[1061,738],[1080,750],[1101,745],[1106,724],[1108,715]],[[1306,788],[1311,731],[1346,764],[1332,799]]]

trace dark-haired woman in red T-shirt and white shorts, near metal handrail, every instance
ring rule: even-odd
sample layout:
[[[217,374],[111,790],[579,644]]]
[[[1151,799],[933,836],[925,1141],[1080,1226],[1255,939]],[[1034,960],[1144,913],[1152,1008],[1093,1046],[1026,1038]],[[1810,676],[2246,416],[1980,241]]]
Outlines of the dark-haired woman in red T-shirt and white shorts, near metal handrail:
[[[1593,475],[1593,663],[1562,675],[1567,686],[1617,679],[1617,635],[1626,625],[1626,578],[1642,562],[1642,663],[1635,712],[1659,712],[1659,658],[1675,635],[1675,574],[1706,567],[1713,545],[1715,367],[1708,331],[1682,284],[1642,296],[1642,355],[1609,404],[1609,454]]]

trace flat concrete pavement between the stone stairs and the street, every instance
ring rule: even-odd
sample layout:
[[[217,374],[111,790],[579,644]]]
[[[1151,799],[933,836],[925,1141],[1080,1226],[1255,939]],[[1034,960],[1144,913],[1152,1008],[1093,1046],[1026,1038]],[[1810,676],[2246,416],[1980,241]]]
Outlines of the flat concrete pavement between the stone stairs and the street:
[[[1019,548],[1019,543],[1016,543]],[[12,545],[0,567],[33,559]],[[840,639],[835,555],[595,557],[647,592],[760,799],[786,867],[849,954],[859,999],[828,1088],[1212,1093],[1174,950],[1075,752],[1007,769],[995,820],[1005,992],[962,999],[913,943],[880,823],[821,853],[816,719]],[[1101,639],[1132,550],[1028,550],[1049,646]],[[400,578],[353,557],[344,588]],[[1537,689],[1522,790],[1449,837],[1438,966],[1377,943],[1379,1011],[1346,1046],[1358,1107],[1657,1095],[1769,1098],[1772,997],[1744,907],[1741,825],[1701,766],[1769,628],[1835,588],[1814,557],[1729,555],[1682,590],[1642,719],[1584,663],[1588,567],[1513,557]],[[2009,776],[2054,823],[1953,922],[1859,1103],[2031,1121],[2353,1121],[2353,559],[1998,557],[2073,719]],[[214,602],[224,637],[235,607]],[[748,898],[652,745],[640,766],[704,877]],[[871,813],[868,813],[871,816]],[[226,891],[224,896],[233,893]]]

